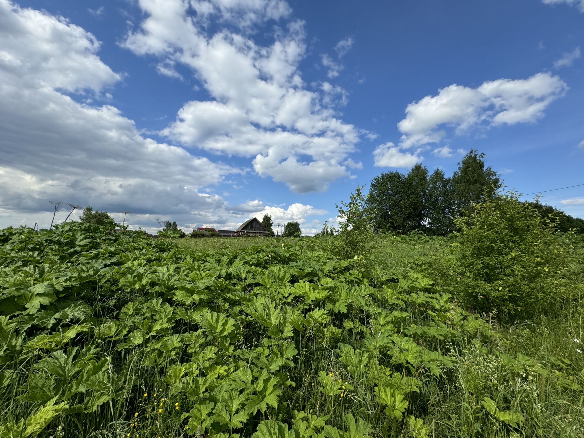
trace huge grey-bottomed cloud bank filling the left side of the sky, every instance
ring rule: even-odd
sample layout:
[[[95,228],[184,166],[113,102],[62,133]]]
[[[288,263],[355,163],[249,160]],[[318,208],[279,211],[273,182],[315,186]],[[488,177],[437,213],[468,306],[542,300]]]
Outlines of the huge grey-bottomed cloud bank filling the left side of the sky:
[[[46,12],[0,0],[0,206],[33,213],[49,200],[137,214],[222,207],[204,193],[238,169],[144,138],[107,100],[123,75],[99,41]]]

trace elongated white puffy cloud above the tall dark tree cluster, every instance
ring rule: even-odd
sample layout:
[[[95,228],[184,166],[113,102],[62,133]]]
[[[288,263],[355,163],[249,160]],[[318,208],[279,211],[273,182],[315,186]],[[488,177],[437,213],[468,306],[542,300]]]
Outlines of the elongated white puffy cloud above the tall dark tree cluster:
[[[528,79],[488,81],[478,88],[453,84],[406,107],[406,117],[398,123],[403,134],[400,144],[409,148],[437,143],[446,136],[440,127],[446,126],[465,134],[474,128],[534,123],[567,89],[564,81],[548,72]]]

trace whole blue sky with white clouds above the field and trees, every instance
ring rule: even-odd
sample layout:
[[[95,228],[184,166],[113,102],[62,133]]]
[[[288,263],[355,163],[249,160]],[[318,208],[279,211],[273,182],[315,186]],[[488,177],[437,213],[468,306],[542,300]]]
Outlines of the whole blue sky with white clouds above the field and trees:
[[[584,0],[0,0],[0,225],[60,200],[314,234],[470,149],[523,193],[582,184],[582,50]],[[584,186],[543,201],[584,217]]]

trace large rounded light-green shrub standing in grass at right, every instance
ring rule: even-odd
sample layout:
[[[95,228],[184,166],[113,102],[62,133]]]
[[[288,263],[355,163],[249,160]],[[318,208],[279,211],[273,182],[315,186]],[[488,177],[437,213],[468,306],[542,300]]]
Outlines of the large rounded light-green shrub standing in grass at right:
[[[456,219],[458,295],[479,312],[546,311],[566,297],[565,237],[553,217],[519,201],[513,191],[474,204]]]

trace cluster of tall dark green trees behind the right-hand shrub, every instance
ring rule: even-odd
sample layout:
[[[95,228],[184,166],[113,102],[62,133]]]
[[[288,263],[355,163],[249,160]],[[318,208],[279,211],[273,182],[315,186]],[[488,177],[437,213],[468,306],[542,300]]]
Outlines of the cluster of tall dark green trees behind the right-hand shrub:
[[[426,166],[421,164],[406,175],[381,173],[371,181],[367,197],[373,230],[449,234],[454,231],[454,215],[481,200],[491,186],[499,189],[499,177],[491,167],[485,167],[484,154],[475,150],[465,155],[450,178],[440,169],[428,176]]]

